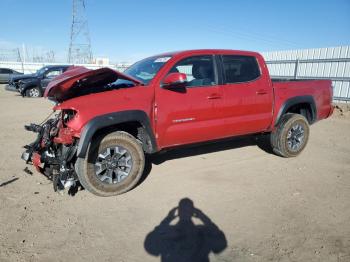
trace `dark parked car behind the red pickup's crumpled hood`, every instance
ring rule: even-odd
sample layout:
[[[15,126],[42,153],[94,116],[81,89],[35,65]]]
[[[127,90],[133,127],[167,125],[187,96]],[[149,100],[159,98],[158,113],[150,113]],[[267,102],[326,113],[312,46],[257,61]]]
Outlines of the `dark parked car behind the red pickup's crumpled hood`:
[[[69,65],[44,66],[34,74],[12,77],[7,90],[17,90],[22,96],[40,97],[44,94],[48,83],[69,67]]]

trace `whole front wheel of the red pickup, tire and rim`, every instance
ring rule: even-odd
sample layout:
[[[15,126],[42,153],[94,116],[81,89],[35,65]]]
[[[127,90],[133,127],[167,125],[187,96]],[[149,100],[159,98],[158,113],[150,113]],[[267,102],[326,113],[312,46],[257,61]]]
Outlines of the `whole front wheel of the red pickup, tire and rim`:
[[[132,135],[118,131],[94,139],[86,158],[78,158],[76,168],[84,188],[98,196],[115,196],[136,186],[144,166],[140,143]]]

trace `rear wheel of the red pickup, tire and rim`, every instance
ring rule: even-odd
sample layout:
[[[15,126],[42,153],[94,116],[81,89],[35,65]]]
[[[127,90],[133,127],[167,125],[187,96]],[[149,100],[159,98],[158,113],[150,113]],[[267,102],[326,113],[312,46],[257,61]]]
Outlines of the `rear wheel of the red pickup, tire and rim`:
[[[273,152],[282,157],[295,157],[304,150],[309,134],[309,124],[304,116],[286,114],[270,135]]]

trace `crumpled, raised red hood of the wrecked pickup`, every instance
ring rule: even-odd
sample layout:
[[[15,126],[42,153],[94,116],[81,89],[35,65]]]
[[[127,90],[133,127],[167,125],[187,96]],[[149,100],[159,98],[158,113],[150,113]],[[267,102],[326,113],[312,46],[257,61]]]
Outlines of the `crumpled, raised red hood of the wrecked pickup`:
[[[94,90],[102,89],[106,84],[113,83],[117,79],[129,80],[136,85],[142,84],[141,81],[108,67],[92,70],[83,66],[72,66],[49,83],[44,96],[62,102],[87,94],[92,87]]]

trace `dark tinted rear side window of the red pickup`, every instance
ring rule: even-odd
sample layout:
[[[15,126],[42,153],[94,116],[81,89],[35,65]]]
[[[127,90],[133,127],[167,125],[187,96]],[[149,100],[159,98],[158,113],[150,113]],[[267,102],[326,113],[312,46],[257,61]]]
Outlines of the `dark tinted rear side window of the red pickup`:
[[[242,83],[257,79],[260,76],[258,62],[253,56],[222,56],[226,83]]]

